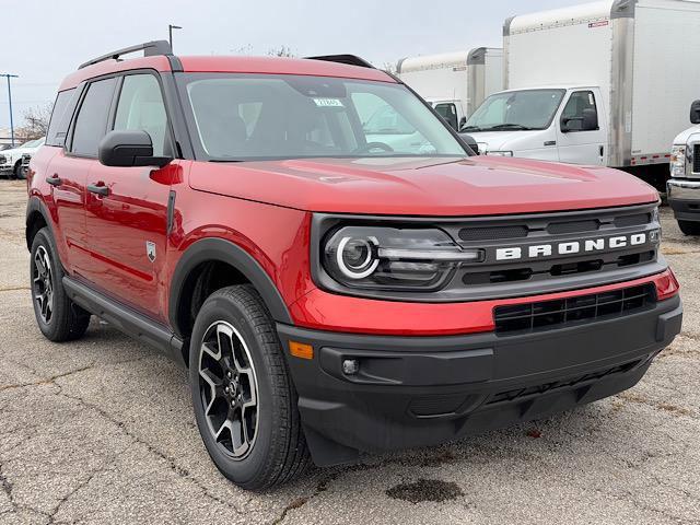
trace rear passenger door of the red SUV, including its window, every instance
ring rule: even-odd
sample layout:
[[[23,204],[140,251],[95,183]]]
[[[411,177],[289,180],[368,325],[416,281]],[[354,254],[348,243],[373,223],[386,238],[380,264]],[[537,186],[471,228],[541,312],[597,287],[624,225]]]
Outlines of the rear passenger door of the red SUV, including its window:
[[[67,248],[67,260],[63,262],[77,273],[82,273],[90,262],[85,185],[90,170],[96,162],[97,143],[105,135],[115,85],[115,79],[105,79],[85,86],[78,115],[68,132],[70,138],[63,150],[51,160],[47,172],[47,178],[54,180],[54,201]],[[72,112],[68,118],[71,116]]]

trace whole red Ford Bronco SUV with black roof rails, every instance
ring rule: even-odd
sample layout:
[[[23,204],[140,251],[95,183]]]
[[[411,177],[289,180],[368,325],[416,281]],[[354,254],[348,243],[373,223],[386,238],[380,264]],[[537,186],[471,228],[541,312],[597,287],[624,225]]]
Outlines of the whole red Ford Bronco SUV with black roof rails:
[[[91,60],[28,196],[44,335],[94,314],[183,363],[249,489],[610,396],[680,330],[653,188],[475,156],[352,56]]]

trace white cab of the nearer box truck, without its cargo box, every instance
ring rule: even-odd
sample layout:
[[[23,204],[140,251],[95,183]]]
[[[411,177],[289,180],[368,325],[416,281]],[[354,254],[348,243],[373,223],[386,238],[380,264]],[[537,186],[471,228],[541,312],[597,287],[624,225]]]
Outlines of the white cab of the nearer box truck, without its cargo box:
[[[606,165],[608,122],[600,88],[542,86],[494,93],[469,117],[487,155]]]

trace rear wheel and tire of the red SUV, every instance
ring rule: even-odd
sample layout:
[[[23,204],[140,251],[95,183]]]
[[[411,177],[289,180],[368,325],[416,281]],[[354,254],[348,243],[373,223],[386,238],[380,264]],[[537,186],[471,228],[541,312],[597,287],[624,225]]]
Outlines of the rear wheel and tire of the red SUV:
[[[42,334],[55,342],[81,338],[90,324],[90,313],[68,299],[63,275],[54,237],[48,228],[43,228],[32,243],[30,287],[36,323]]]

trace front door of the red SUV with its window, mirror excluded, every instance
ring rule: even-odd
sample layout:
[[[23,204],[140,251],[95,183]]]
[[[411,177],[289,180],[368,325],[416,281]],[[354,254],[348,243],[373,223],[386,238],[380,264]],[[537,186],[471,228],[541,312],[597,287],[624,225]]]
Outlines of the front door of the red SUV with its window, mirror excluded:
[[[120,79],[109,130],[143,130],[153,154],[172,156],[159,79],[152,73]],[[86,238],[92,260],[86,277],[100,291],[150,317],[164,320],[159,276],[166,252],[170,177],[176,166],[113,167],[94,163],[88,180]]]

